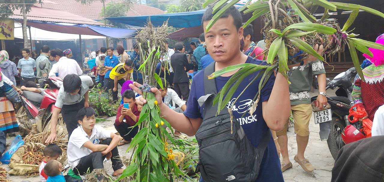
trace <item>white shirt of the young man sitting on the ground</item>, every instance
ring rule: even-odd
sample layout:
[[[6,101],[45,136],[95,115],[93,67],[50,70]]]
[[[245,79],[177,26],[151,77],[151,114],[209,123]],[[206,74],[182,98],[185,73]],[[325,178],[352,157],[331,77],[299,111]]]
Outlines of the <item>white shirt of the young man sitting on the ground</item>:
[[[111,132],[108,132],[101,126],[94,126],[91,136],[88,136],[81,126],[74,129],[68,141],[68,164],[71,167],[76,167],[82,157],[92,153],[90,149],[83,146],[84,143],[91,141],[93,144],[99,144],[99,139],[102,138],[111,138]]]

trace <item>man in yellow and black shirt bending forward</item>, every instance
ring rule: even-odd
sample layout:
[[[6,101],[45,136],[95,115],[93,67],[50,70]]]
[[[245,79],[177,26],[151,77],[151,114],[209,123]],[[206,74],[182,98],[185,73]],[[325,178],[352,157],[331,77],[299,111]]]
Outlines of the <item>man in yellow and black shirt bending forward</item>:
[[[109,74],[109,89],[112,89],[112,98],[114,101],[118,100],[118,83],[122,86],[126,80],[131,78],[131,73],[133,72],[132,64],[133,61],[128,59],[116,65]]]

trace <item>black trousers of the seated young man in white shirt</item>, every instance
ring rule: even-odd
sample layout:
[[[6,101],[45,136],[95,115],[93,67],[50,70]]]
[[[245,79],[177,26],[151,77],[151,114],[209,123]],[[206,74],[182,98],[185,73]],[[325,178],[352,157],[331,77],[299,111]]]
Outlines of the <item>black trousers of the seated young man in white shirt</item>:
[[[112,138],[106,138],[103,142],[99,144],[109,145],[112,141]],[[111,151],[112,157],[112,168],[113,171],[116,171],[123,167],[121,162],[118,148],[115,147]],[[73,172],[78,175],[85,175],[89,169],[89,172],[92,172],[94,169],[104,169],[103,161],[106,156],[102,156],[101,152],[92,152],[88,156],[85,156],[80,159],[79,164],[73,168]]]

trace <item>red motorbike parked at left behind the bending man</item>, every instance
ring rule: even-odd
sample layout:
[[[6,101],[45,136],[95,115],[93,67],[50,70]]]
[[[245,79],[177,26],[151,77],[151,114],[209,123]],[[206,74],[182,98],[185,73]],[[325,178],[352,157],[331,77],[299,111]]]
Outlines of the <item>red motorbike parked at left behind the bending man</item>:
[[[59,89],[63,85],[63,80],[59,77],[35,78],[39,79],[39,82],[43,82],[41,87],[44,89],[44,96],[24,90],[20,95],[22,107],[17,111],[16,117],[28,130],[32,129],[33,124],[37,124],[37,131],[42,132],[51,119],[53,106],[56,103]],[[58,123],[63,123],[61,114]]]

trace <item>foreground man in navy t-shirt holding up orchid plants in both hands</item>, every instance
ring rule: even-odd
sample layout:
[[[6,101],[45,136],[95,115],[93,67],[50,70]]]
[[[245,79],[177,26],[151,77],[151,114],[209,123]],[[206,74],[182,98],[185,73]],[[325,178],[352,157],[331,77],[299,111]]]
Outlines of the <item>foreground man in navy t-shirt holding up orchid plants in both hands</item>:
[[[220,9],[220,8],[219,8]],[[204,32],[205,27],[212,19],[212,7],[208,8],[202,18]],[[217,20],[212,28],[205,33],[207,50],[215,60],[215,71],[222,70],[227,66],[236,64],[251,63],[262,64],[263,62],[248,57],[240,51],[240,40],[243,37],[242,15],[235,7],[230,7],[224,15]],[[238,45],[238,46],[234,46]],[[205,71],[205,70],[204,70]],[[197,99],[204,95],[204,71],[198,72],[192,80],[190,96],[187,102],[187,109],[184,113],[176,113],[167,107],[161,99],[161,93],[156,88],[151,91],[155,93],[161,115],[175,128],[182,133],[192,136],[196,134],[202,123],[203,108],[199,107]],[[238,70],[228,72],[215,78],[216,88],[220,90]],[[277,73],[276,77],[271,76],[261,90],[258,107],[250,115],[249,109],[253,105],[253,98],[258,93],[260,78],[256,79],[246,89],[258,72],[246,77],[239,85],[227,107],[231,108],[232,103],[244,91],[241,97],[232,107],[233,117],[242,125],[245,134],[250,142],[256,147],[266,132],[281,130],[290,116],[290,100],[288,82],[285,77]],[[136,92],[142,93],[137,87],[140,84],[130,85]],[[141,99],[139,102],[146,102]],[[142,104],[142,103],[139,103]],[[279,111],[279,114],[276,114]],[[223,148],[224,149],[224,148]],[[200,179],[202,181],[202,179]],[[280,169],[280,161],[277,156],[276,146],[271,136],[266,148],[260,173],[257,182],[283,182],[283,174]]]

